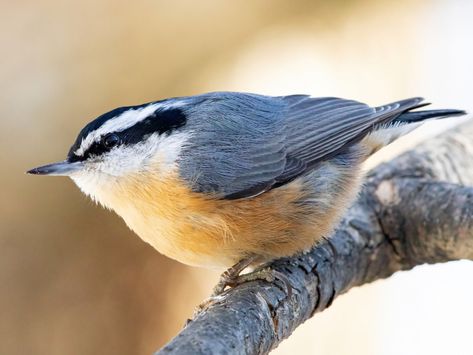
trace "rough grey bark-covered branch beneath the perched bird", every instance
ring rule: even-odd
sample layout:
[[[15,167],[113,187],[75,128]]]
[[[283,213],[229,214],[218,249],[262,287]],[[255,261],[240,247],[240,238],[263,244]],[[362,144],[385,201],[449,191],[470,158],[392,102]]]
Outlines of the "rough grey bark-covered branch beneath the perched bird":
[[[354,286],[416,265],[473,259],[473,124],[368,173],[333,236],[271,267],[292,285],[254,281],[200,312],[156,354],[266,354]]]

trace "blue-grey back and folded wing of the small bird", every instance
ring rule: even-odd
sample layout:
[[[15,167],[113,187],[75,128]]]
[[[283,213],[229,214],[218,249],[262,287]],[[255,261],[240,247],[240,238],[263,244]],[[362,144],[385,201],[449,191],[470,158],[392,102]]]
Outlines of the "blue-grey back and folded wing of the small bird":
[[[185,148],[193,151],[192,159],[180,166],[195,190],[226,199],[281,186],[422,101],[412,98],[373,108],[336,97],[212,95],[190,114],[199,135]],[[206,119],[199,116],[203,114]]]

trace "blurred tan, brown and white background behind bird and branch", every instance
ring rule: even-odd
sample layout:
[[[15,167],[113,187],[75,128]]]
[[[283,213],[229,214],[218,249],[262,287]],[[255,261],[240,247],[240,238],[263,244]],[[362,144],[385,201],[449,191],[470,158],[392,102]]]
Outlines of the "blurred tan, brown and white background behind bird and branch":
[[[217,280],[159,255],[70,180],[24,174],[63,159],[101,113],[217,90],[473,110],[469,0],[0,4],[0,354],[151,354]],[[472,279],[455,262],[354,289],[273,354],[472,354]]]

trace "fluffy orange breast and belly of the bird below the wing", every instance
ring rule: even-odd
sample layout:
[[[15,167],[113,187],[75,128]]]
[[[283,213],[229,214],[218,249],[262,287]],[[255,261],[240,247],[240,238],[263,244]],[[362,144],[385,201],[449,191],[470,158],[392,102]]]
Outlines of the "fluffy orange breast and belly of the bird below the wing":
[[[314,192],[297,179],[255,198],[221,200],[191,191],[177,174],[166,179],[139,174],[97,197],[161,253],[221,268],[252,254],[273,259],[310,248],[331,231],[355,184],[348,190],[333,192],[330,203],[305,203]]]

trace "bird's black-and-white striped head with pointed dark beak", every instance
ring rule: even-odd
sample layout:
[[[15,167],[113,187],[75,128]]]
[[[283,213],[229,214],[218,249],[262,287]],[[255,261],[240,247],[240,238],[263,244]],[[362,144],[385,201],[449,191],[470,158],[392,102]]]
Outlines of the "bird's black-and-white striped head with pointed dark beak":
[[[170,99],[105,113],[80,131],[66,160],[28,173],[69,176],[92,197],[130,176],[165,175],[189,137],[183,106],[183,100]]]

